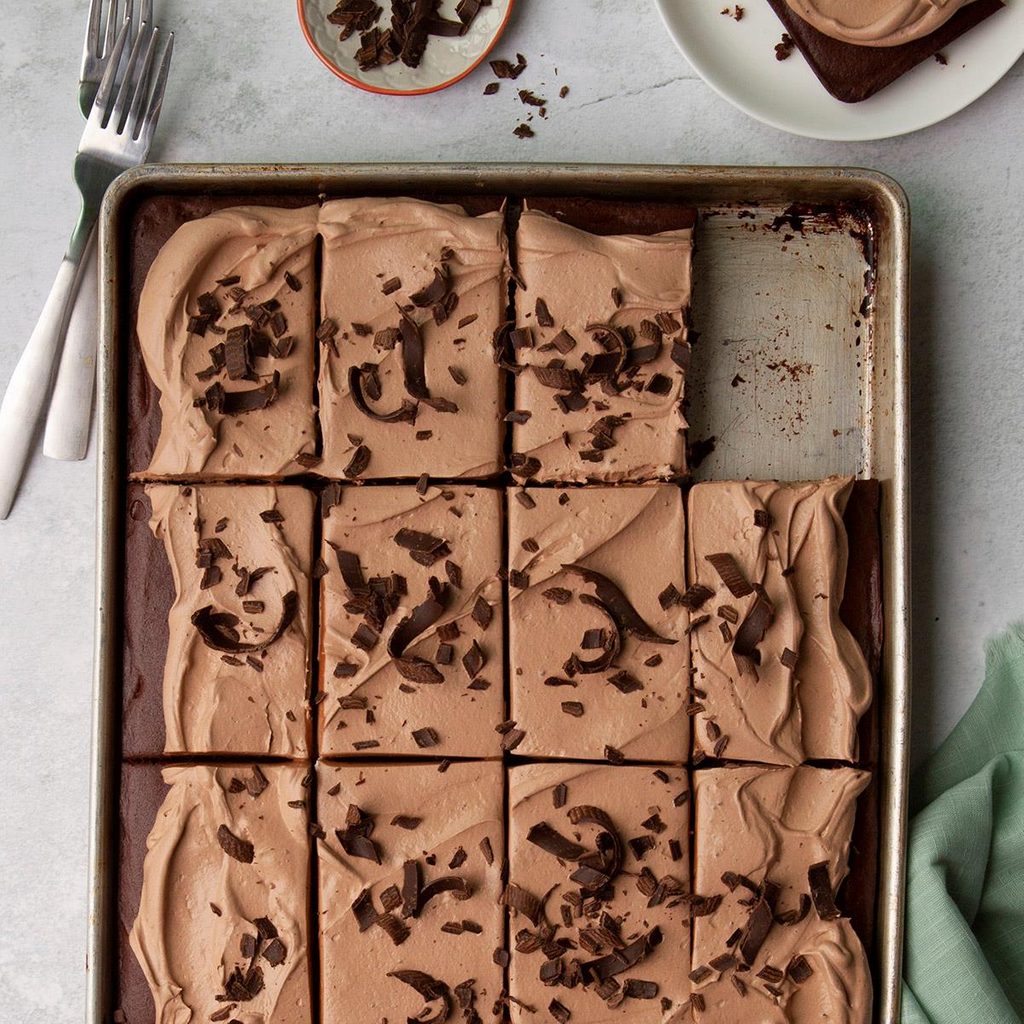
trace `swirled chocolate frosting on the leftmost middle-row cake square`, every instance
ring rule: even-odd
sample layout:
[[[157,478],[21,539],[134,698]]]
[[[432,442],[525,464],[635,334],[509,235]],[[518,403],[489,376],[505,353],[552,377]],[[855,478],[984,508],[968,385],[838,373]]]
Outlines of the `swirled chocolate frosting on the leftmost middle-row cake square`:
[[[164,664],[165,753],[304,756],[313,496],[297,486],[218,484],[151,484],[146,494],[176,595]],[[211,569],[197,565],[206,542],[223,545]],[[268,571],[244,586],[245,570],[257,569]],[[216,582],[203,589],[208,572]],[[201,609],[228,613],[238,618],[240,648],[260,644],[281,623],[289,594],[294,617],[258,652],[212,647],[195,622]]]

